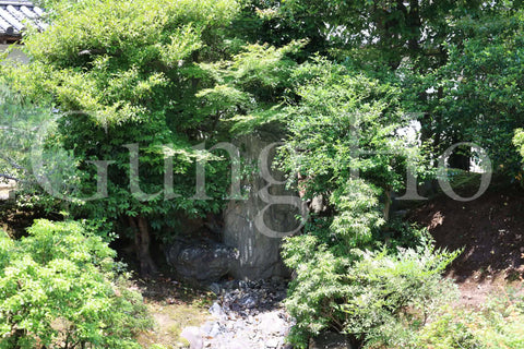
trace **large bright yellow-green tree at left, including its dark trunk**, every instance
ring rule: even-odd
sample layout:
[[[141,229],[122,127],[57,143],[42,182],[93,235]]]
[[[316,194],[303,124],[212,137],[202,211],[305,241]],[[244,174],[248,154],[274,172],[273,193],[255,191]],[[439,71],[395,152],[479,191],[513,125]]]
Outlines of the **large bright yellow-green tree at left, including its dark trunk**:
[[[221,137],[219,115],[199,109],[195,94],[206,80],[196,63],[227,53],[224,28],[238,5],[233,0],[50,4],[52,25],[24,39],[31,63],[4,73],[28,100],[53,105],[62,113],[48,128],[43,147],[59,145],[71,158],[73,169],[64,179],[72,182],[63,196],[92,196],[95,179],[103,177],[92,161],[114,161],[107,168],[107,195],[73,201],[72,208],[80,216],[109,217],[130,227],[142,273],[153,273],[150,229],[162,231],[177,212],[217,212],[225,196],[227,176],[217,174],[218,182],[209,180],[205,188],[215,200],[193,197],[196,159],[215,159],[207,163],[207,173],[225,173],[227,167],[193,149]],[[164,190],[166,171],[174,174],[167,179],[172,191],[155,195]]]

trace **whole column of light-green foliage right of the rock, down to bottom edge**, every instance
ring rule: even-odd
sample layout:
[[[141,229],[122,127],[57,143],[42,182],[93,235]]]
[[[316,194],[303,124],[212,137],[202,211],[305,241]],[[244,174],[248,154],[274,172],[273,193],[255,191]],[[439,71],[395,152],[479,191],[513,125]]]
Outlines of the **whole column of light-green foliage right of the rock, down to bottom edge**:
[[[297,275],[286,301],[297,320],[290,341],[303,346],[326,328],[369,345],[405,341],[442,301],[440,273],[456,254],[434,252],[409,227],[383,246],[393,230],[389,194],[402,190],[407,167],[424,165],[418,145],[398,131],[412,121],[400,91],[320,57],[298,65],[291,81],[279,164],[306,198],[324,197],[330,215],[312,215],[306,234],[284,244]],[[420,238],[413,249],[396,250],[409,240],[403,229]]]

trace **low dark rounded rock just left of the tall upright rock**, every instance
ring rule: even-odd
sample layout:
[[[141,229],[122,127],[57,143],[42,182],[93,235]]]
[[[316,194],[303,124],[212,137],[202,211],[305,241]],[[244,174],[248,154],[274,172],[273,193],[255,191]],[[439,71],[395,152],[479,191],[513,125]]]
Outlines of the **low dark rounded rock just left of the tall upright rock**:
[[[229,274],[233,265],[236,265],[238,253],[222,243],[179,241],[168,248],[166,258],[182,278],[211,284]]]

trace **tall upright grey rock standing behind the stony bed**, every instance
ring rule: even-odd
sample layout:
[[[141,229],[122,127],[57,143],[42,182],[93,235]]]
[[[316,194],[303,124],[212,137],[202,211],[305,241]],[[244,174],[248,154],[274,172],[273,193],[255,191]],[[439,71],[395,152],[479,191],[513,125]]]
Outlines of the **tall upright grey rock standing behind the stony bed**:
[[[274,134],[253,134],[239,139],[236,146],[241,149],[242,159],[248,164],[257,164],[262,151],[277,141],[278,139]],[[269,154],[270,158],[274,154],[275,148],[273,147]],[[274,233],[261,231],[255,225],[255,219],[267,205],[260,195],[260,191],[267,185],[267,182],[259,171],[254,171],[252,174],[250,179],[241,183],[243,189],[249,190],[247,200],[230,201],[224,213],[224,243],[236,248],[239,252],[238,263],[233,265],[230,273],[239,279],[286,277],[289,272],[281,258],[282,237],[298,227],[295,217],[299,210],[288,204],[271,205],[263,216],[264,222],[271,230],[282,233],[277,233],[275,237]],[[283,180],[282,173],[272,176],[276,180]],[[272,184],[269,194],[298,198],[297,193],[286,190],[283,184]]]

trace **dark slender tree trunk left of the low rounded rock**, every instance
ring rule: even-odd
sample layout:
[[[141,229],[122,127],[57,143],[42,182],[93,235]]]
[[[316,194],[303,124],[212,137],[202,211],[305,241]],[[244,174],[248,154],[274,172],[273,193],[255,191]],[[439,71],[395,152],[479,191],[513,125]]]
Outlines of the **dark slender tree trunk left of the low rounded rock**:
[[[140,264],[140,276],[153,276],[157,273],[157,268],[150,253],[151,236],[147,220],[142,216],[129,217],[129,224],[134,230],[134,248]]]

